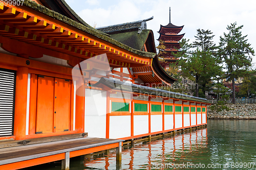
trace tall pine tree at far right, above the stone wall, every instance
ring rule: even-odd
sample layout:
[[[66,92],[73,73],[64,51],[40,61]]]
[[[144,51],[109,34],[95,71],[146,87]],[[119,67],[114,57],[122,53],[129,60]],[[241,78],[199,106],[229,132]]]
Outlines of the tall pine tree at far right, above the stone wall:
[[[247,35],[243,36],[240,31],[243,26],[237,27],[237,22],[227,26],[228,34],[220,37],[219,55],[226,65],[226,76],[232,80],[232,100],[236,104],[234,79],[242,77],[251,66],[251,55],[254,56],[251,44],[247,42]]]

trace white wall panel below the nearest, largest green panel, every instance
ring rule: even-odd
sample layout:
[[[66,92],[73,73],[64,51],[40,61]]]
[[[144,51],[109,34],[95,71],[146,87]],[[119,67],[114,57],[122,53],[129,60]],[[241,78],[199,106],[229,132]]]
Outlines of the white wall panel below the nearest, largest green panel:
[[[131,136],[131,116],[110,116],[110,138]]]

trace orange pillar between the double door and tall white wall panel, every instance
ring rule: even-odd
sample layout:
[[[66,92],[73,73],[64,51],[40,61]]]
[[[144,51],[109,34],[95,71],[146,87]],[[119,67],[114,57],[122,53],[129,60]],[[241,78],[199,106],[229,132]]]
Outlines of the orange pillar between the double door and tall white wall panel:
[[[76,90],[75,129],[77,130],[78,133],[83,133],[84,132],[84,94],[85,92],[84,92],[83,84],[80,81],[77,81],[76,86],[79,88]]]

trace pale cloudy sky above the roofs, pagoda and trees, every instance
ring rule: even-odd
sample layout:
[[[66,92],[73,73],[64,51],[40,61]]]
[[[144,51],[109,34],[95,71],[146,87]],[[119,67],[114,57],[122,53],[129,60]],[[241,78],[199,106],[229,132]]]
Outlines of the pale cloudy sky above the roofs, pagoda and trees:
[[[180,34],[195,40],[197,29],[210,30],[214,42],[218,45],[220,36],[227,33],[227,26],[237,22],[243,25],[242,34],[248,35],[248,42],[256,52],[256,1],[255,0],[66,0],[68,5],[92,27],[111,26],[124,22],[142,20],[154,16],[147,21],[147,29],[153,30],[155,41],[159,37],[160,25],[169,23],[169,7],[171,22],[184,28]],[[156,41],[157,44],[157,41]],[[256,56],[252,57],[256,63]],[[254,65],[255,68],[255,65]]]

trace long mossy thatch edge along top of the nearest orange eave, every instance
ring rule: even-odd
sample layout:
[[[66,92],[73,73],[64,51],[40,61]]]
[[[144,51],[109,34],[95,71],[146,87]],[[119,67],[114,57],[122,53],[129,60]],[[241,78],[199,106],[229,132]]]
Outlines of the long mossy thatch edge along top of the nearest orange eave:
[[[18,1],[18,0],[15,0],[15,1]],[[56,20],[59,20],[59,21],[62,21],[70,26],[73,26],[74,28],[76,29],[79,29],[81,31],[84,31],[86,33],[89,33],[97,38],[100,38],[104,41],[108,41],[118,47],[121,47],[123,48],[124,50],[127,50],[129,52],[132,52],[134,54],[137,54],[139,56],[142,56],[142,57],[148,57],[148,58],[154,58],[156,56],[155,53],[149,53],[149,52],[142,52],[142,51],[139,51],[139,50],[135,50],[134,48],[132,47],[129,47],[115,39],[112,39],[106,35],[103,35],[101,32],[99,32],[98,30],[92,28],[91,26],[89,26],[87,24],[87,26],[85,25],[82,25],[81,23],[77,22],[77,21],[74,21],[64,15],[61,15],[55,11],[52,11],[44,6],[41,6],[37,3],[35,3],[34,1],[31,1],[31,0],[25,0],[24,3],[23,3],[23,6],[26,6],[26,7],[29,7],[29,8],[32,8],[38,12],[41,12],[45,15],[48,15],[50,17],[52,17],[53,19],[56,19]]]

